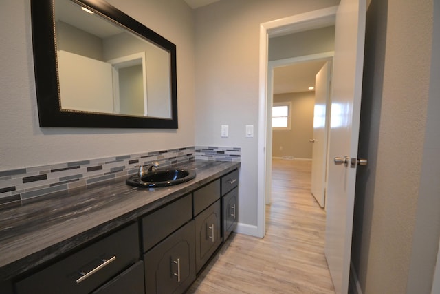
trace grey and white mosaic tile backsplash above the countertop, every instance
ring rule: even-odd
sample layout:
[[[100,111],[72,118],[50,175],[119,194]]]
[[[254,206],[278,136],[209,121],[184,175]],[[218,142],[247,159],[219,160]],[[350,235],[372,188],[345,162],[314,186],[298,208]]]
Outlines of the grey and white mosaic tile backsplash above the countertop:
[[[240,161],[240,158],[239,147],[183,147],[0,171],[0,207],[135,174],[135,165],[148,165],[157,161],[160,167],[167,167],[195,159]]]

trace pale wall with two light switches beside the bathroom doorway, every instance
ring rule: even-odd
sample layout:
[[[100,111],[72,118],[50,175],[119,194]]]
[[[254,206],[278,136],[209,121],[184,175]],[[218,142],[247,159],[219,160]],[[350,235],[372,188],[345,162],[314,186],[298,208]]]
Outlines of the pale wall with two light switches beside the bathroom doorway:
[[[195,11],[195,144],[242,148],[241,224],[257,224],[260,24],[338,3],[219,1]],[[229,125],[228,138],[221,138],[221,125]],[[245,125],[254,125],[254,138],[245,138]]]

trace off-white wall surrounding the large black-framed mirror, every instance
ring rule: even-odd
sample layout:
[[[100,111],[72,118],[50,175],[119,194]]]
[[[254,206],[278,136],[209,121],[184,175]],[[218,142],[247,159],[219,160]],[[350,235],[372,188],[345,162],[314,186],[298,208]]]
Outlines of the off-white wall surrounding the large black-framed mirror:
[[[177,45],[179,129],[41,128],[36,109],[30,1],[0,9],[0,170],[192,146],[194,20],[182,0],[109,0]]]

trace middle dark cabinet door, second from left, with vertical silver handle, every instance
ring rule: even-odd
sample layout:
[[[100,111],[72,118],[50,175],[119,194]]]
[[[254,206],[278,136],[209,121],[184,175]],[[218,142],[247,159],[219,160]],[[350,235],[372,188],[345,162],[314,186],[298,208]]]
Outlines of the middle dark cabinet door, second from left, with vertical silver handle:
[[[206,264],[212,253],[223,241],[221,240],[220,209],[220,200],[218,200],[195,218],[195,264],[197,272]]]

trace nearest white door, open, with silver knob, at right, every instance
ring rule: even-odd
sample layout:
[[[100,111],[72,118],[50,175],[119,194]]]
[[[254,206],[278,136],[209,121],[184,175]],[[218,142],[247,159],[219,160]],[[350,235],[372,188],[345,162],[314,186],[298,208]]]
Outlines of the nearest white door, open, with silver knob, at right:
[[[353,205],[358,156],[362,67],[364,61],[365,0],[342,0],[336,14],[333,92],[327,176],[325,256],[336,293],[349,285]],[[349,159],[334,165],[333,158]]]

